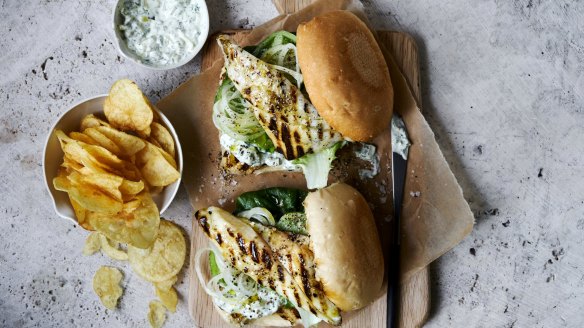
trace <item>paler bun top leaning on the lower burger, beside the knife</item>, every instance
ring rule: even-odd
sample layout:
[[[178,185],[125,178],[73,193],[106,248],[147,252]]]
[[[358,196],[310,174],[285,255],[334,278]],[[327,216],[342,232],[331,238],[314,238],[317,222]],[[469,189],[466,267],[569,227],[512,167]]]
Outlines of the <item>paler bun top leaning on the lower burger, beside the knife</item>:
[[[316,278],[343,311],[367,306],[383,283],[383,254],[373,214],[353,187],[336,183],[304,201]]]

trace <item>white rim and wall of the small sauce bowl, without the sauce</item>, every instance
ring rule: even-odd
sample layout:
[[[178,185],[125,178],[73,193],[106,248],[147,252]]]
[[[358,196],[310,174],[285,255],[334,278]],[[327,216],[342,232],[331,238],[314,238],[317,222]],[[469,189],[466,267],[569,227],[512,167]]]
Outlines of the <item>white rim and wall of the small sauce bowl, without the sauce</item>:
[[[181,60],[180,62],[171,64],[171,65],[158,66],[158,65],[149,65],[149,64],[142,62],[141,58],[138,55],[136,55],[132,50],[130,50],[130,48],[128,48],[126,41],[124,41],[125,37],[123,36],[122,32],[119,29],[119,26],[122,24],[122,21],[123,21],[122,14],[120,13],[120,10],[121,10],[121,7],[122,7],[122,4],[124,3],[124,1],[126,1],[126,0],[118,0],[116,7],[114,8],[114,17],[113,17],[114,35],[116,36],[118,49],[122,53],[122,55],[124,55],[124,57],[130,59],[131,61],[135,62],[136,64],[141,65],[143,67],[151,68],[154,70],[167,70],[167,69],[177,68],[177,67],[180,67],[182,65],[185,65],[186,63],[190,62],[193,58],[195,58],[195,56],[199,53],[199,51],[201,51],[201,49],[205,45],[205,41],[207,40],[207,36],[209,35],[209,11],[207,9],[207,3],[205,2],[205,0],[198,0],[197,2],[199,3],[200,14],[201,14],[201,34],[199,35],[199,39],[197,40],[197,45],[193,49],[193,51],[190,54],[185,54],[183,60]]]

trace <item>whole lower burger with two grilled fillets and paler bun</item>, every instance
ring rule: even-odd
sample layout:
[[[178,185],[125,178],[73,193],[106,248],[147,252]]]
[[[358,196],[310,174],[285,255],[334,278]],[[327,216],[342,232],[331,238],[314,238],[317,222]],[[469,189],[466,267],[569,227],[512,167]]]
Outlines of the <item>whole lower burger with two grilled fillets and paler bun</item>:
[[[211,241],[195,255],[197,275],[229,323],[339,325],[341,311],[368,305],[381,290],[373,215],[347,184],[248,192],[234,214],[209,207],[195,216]]]

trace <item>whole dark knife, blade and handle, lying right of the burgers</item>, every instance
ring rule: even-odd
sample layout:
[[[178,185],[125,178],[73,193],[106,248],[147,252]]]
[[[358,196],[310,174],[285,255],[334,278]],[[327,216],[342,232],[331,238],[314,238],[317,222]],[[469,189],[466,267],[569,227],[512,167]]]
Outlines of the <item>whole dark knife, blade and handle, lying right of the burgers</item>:
[[[404,187],[407,174],[407,160],[398,153],[392,153],[391,173],[393,180],[393,235],[386,270],[387,281],[387,327],[399,326],[399,286],[400,286],[400,226]]]

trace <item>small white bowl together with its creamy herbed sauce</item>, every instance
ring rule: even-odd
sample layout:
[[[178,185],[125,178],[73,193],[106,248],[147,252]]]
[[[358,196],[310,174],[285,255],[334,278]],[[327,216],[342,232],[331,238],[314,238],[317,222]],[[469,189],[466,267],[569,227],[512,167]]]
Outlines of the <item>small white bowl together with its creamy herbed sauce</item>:
[[[114,31],[120,52],[152,69],[190,62],[209,34],[204,0],[119,0]]]

